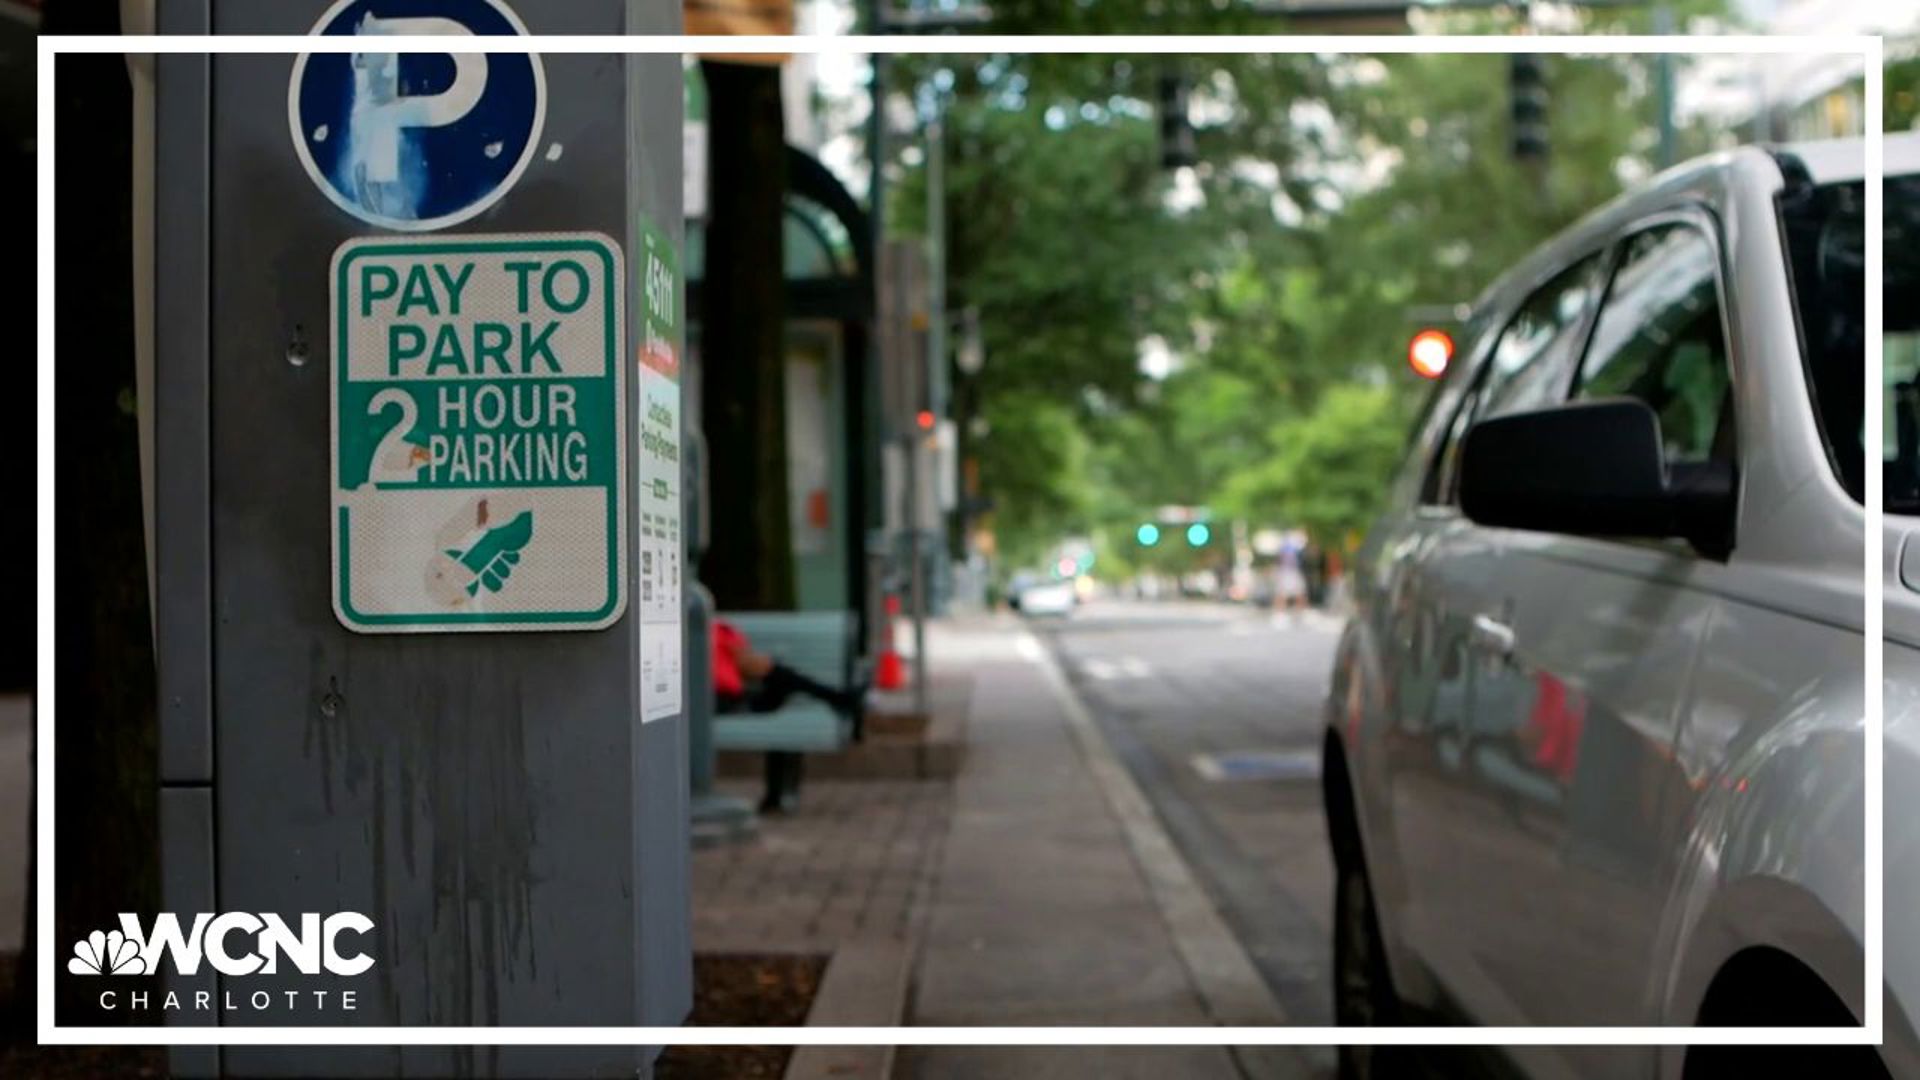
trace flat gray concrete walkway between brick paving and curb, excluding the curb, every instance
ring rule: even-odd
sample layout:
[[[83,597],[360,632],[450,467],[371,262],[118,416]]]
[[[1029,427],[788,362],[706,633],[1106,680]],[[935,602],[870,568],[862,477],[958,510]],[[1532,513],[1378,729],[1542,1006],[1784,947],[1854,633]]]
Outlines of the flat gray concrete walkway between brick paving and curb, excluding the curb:
[[[973,673],[916,1024],[1204,1024],[1121,822],[1016,632]]]

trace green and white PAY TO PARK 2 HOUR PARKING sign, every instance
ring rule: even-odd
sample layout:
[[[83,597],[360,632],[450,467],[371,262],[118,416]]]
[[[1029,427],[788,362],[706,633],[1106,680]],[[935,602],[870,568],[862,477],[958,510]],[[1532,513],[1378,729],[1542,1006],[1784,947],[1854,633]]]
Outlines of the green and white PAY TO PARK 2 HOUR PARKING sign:
[[[334,613],[349,630],[620,617],[620,248],[589,233],[334,252]]]

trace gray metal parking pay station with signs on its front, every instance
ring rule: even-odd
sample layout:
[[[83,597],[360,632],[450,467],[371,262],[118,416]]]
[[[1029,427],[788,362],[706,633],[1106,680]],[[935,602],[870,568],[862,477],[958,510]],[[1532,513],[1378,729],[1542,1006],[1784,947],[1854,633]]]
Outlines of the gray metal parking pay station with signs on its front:
[[[163,33],[371,40],[159,61],[163,911],[290,930],[246,938],[276,965],[163,970],[184,997],[146,1022],[684,1019],[680,58],[376,40],[678,21],[637,0],[161,0]],[[246,1076],[649,1065],[175,1055]]]

